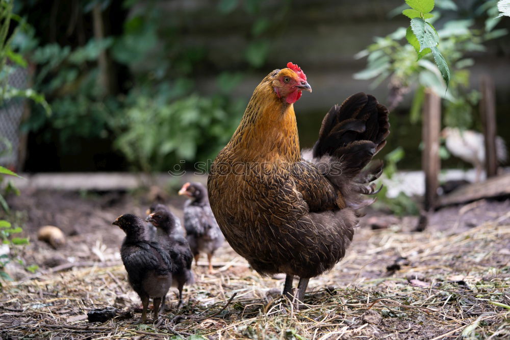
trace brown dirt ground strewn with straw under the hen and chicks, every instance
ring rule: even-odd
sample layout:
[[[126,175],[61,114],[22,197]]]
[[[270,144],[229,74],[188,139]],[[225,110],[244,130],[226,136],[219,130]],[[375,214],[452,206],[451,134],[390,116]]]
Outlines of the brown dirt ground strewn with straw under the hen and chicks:
[[[169,294],[163,318],[137,326],[140,302],[119,255],[123,232],[111,223],[122,213],[144,216],[145,192],[27,190],[9,203],[8,219],[31,244],[11,254],[22,264],[7,267],[14,281],[3,282],[0,296],[2,339],[510,336],[510,200],[442,209],[421,233],[412,231],[416,217],[368,211],[346,257],[310,280],[309,308],[300,311],[279,297],[283,276],[261,277],[225,244],[215,274],[207,274],[205,258],[194,266],[196,283],[185,288],[180,310]],[[166,203],[182,217],[184,199]],[[60,227],[66,244],[54,250],[38,241],[43,225]],[[25,270],[32,264],[34,274]],[[118,317],[88,322],[88,311],[111,306]]]

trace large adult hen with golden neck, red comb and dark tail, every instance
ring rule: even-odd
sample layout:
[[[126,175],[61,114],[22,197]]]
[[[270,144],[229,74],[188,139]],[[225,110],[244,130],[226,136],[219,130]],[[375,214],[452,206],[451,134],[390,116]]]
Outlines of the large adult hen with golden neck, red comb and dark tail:
[[[312,92],[292,63],[254,90],[239,127],[208,179],[211,208],[232,248],[263,275],[285,273],[283,294],[303,301],[310,278],[333,268],[373,200],[382,172],[372,157],[386,144],[388,110],[365,93],[333,106],[309,154],[299,150],[294,103]],[[367,166],[368,165],[368,166]]]

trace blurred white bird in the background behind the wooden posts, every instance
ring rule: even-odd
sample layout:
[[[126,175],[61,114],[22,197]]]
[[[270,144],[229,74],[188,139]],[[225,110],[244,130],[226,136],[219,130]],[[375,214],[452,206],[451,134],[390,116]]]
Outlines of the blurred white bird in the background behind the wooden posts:
[[[476,169],[476,181],[478,182],[483,165],[485,164],[483,134],[472,130],[447,127],[443,129],[441,136],[445,138],[446,149],[453,156],[473,164]],[[505,163],[507,156],[503,138],[496,136],[496,158],[499,163]]]

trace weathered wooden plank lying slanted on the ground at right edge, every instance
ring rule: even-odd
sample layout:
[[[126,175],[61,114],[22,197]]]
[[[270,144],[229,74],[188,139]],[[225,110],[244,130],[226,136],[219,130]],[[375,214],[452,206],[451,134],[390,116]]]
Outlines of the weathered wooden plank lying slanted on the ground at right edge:
[[[439,206],[505,196],[510,196],[510,174],[492,177],[484,182],[477,182],[460,187],[449,195],[441,197]]]

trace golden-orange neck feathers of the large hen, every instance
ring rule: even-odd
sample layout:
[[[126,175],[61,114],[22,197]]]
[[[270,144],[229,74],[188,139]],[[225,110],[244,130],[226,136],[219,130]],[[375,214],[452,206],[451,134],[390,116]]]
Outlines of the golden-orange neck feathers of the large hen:
[[[253,91],[241,123],[227,148],[245,161],[300,159],[294,105],[278,98],[268,75]]]

